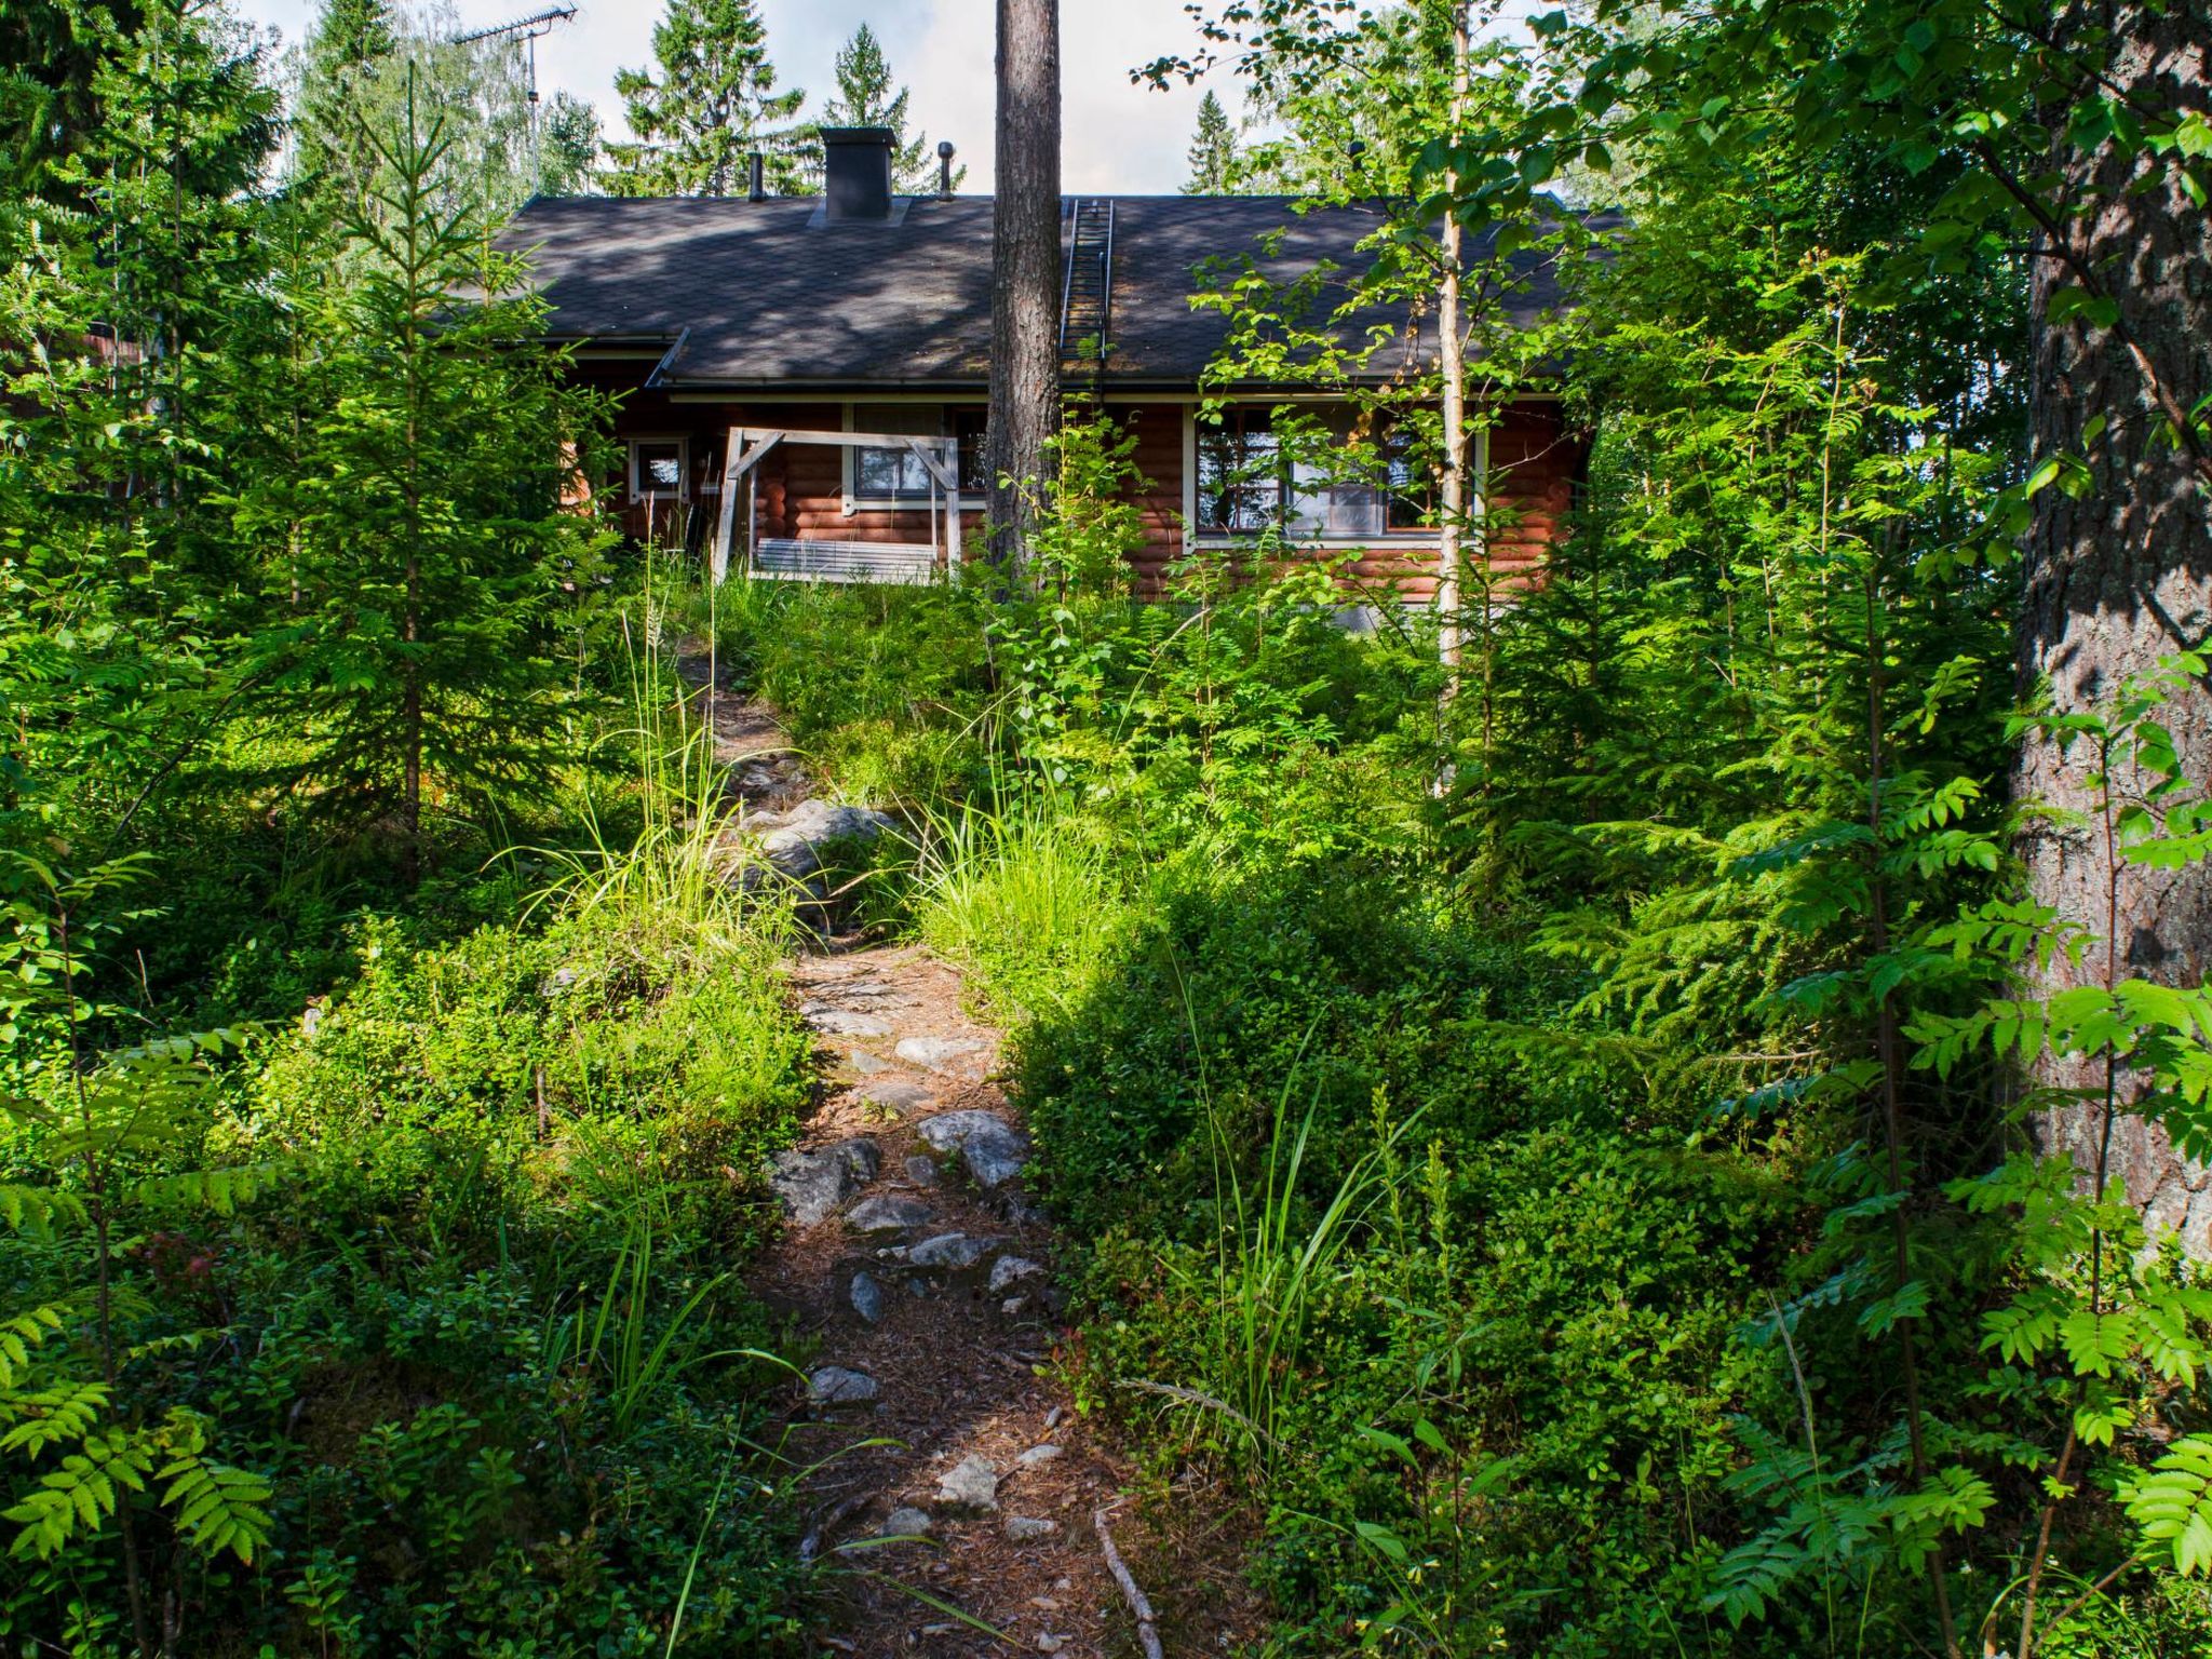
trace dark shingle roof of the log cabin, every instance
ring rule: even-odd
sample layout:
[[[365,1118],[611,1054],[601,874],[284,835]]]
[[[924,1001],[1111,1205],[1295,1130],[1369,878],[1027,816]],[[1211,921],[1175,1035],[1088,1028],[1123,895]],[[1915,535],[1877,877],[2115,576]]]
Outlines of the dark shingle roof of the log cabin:
[[[1190,305],[1208,261],[1252,254],[1279,283],[1323,261],[1358,272],[1371,263],[1358,241],[1380,223],[1356,208],[1298,215],[1285,197],[1113,201],[1106,380],[1128,387],[1188,387],[1221,347],[1228,321]],[[659,385],[982,385],[991,199],[914,197],[887,223],[821,223],[818,208],[812,197],[553,197],[531,201],[502,246],[531,254],[557,336],[672,347]],[[1559,294],[1548,268],[1528,276],[1513,305],[1533,316]],[[1433,352],[1433,332],[1416,349]],[[1376,374],[1402,358],[1378,354]]]

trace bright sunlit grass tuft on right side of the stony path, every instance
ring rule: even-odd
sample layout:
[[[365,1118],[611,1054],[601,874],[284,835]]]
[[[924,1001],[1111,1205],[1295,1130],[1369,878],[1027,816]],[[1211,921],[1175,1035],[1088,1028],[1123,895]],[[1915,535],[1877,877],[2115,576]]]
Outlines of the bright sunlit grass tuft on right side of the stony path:
[[[922,940],[1002,1018],[1075,1002],[1113,958],[1128,902],[1099,825],[1026,790],[929,812],[916,865]]]

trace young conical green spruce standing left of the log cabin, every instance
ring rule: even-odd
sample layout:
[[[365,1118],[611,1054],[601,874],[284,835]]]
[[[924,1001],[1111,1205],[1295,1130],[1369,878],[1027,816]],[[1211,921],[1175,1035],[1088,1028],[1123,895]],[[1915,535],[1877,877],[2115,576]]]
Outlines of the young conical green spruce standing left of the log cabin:
[[[319,319],[299,549],[270,573],[272,613],[294,615],[263,648],[294,781],[321,816],[394,832],[411,876],[431,812],[544,792],[557,604],[597,540],[557,504],[588,409],[540,349],[520,263],[440,206],[445,119],[409,95],[372,148],[347,223],[361,276]]]

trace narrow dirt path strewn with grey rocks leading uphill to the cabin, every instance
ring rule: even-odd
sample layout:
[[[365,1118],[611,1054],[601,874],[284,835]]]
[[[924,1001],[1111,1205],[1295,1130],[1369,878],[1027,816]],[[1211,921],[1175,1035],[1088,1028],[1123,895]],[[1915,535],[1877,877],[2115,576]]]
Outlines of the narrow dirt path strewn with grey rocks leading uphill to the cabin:
[[[717,699],[717,759],[805,878],[814,818],[849,810],[803,799],[774,723],[732,703]],[[787,1225],[750,1283],[807,1356],[790,1451],[823,1464],[805,1551],[838,1590],[818,1650],[1146,1652],[1095,1524],[1124,1473],[1051,1363],[1055,1239],[993,1082],[1000,1033],[920,947],[825,938],[787,973],[821,1095],[776,1161]]]

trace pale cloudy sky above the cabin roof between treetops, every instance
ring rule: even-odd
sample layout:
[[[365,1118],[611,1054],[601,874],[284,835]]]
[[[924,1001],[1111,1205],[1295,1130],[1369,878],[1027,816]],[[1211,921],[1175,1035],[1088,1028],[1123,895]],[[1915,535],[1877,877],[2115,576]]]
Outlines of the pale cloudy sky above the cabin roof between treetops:
[[[460,29],[529,15],[553,0],[451,0]],[[232,0],[248,22],[270,24],[296,44],[316,0]],[[575,0],[575,22],[538,42],[538,91],[573,93],[599,111],[608,137],[622,137],[615,71],[653,60],[659,0]],[[929,142],[951,139],[967,164],[964,190],[991,188],[991,22],[993,0],[761,0],[768,49],[783,86],[807,91],[807,113],[836,82],[836,49],[872,24],[891,73],[914,91],[909,122]],[[1168,192],[1183,184],[1190,128],[1203,86],[1159,93],[1133,86],[1128,71],[1152,58],[1188,53],[1197,29],[1183,0],[1062,0],[1060,7],[1060,177],[1068,192]],[[1223,102],[1237,106],[1223,86]]]

